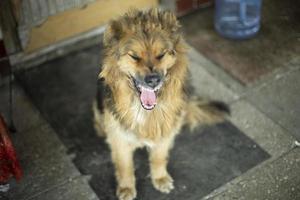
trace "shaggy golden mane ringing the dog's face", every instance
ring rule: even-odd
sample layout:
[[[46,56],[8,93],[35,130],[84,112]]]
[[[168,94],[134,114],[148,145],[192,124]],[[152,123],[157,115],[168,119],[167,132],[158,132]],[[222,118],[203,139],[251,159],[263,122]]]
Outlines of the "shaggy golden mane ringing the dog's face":
[[[187,58],[186,44],[179,32],[179,23],[176,16],[168,11],[150,9],[149,11],[131,10],[123,17],[111,21],[104,34],[105,57],[103,60],[100,77],[112,91],[115,99],[113,110],[115,117],[129,129],[135,129],[147,138],[159,138],[163,134],[170,134],[180,117],[183,108],[185,85],[187,84]],[[153,30],[153,31],[152,31]],[[120,41],[130,32],[152,34],[154,31],[163,31],[169,35],[177,54],[176,63],[168,72],[168,80],[161,92],[160,102],[162,106],[148,114],[148,122],[142,127],[135,123],[133,113],[128,109],[135,95],[128,81],[128,77],[116,67]],[[126,98],[125,98],[126,97]],[[163,106],[168,105],[168,106]],[[106,106],[108,107],[108,106]],[[175,117],[177,116],[177,117]],[[147,130],[146,132],[144,130]]]

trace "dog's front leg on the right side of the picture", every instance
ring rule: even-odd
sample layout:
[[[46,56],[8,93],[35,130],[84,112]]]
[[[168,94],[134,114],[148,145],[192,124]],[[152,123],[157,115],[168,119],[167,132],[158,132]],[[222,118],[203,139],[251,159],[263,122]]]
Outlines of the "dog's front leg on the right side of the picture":
[[[163,139],[150,149],[150,167],[153,186],[164,193],[174,189],[173,179],[167,171],[169,150],[173,145],[172,138]]]

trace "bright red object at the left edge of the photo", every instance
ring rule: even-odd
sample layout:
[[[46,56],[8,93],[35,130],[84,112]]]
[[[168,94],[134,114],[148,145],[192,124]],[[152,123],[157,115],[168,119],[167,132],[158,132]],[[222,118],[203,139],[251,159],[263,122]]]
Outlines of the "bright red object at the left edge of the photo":
[[[11,177],[20,180],[22,170],[15,149],[9,139],[8,128],[0,115],[0,183],[7,182]]]

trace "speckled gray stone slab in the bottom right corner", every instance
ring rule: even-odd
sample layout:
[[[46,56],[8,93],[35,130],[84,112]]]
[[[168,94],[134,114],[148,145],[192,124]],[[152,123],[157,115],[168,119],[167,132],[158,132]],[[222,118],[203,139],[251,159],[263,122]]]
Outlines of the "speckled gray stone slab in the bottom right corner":
[[[270,158],[214,190],[202,200],[299,199],[299,155],[300,148],[294,147],[280,157]]]

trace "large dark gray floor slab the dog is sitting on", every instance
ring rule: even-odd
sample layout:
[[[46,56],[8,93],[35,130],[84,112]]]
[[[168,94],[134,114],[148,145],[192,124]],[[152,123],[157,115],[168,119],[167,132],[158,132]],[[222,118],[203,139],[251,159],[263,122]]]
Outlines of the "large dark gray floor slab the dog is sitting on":
[[[113,166],[107,146],[96,137],[91,103],[96,91],[100,47],[85,49],[38,68],[20,72],[24,86],[43,117],[74,154],[74,163],[101,199],[115,199]],[[70,73],[76,65],[76,73]],[[147,154],[135,157],[138,199],[195,199],[241,175],[269,155],[230,122],[183,130],[171,152],[170,173],[177,190],[170,195],[155,191],[148,177]]]

